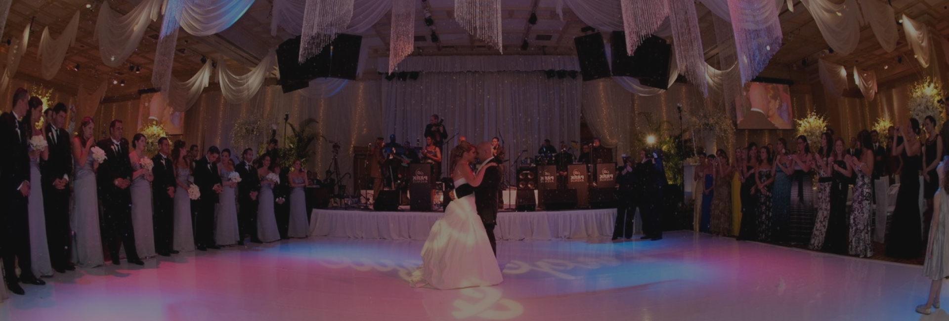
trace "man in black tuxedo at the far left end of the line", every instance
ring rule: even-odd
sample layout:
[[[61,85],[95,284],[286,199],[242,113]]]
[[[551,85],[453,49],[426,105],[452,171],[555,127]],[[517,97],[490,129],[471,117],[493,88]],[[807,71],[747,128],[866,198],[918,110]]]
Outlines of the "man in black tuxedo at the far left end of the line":
[[[33,276],[29,258],[29,156],[27,152],[28,92],[19,88],[13,93],[13,108],[0,115],[0,202],[4,215],[0,215],[0,240],[3,245],[4,275],[7,288],[14,294],[25,294],[19,282],[43,285],[43,280]],[[38,191],[39,192],[39,191]],[[22,274],[16,276],[16,262]]]

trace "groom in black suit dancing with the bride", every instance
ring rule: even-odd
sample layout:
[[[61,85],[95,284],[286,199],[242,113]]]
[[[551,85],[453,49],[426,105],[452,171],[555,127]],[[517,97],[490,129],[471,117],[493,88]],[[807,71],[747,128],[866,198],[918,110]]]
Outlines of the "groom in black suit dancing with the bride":
[[[491,143],[483,142],[477,145],[478,157],[483,160],[478,163],[477,169],[480,170],[485,164],[491,162],[500,165],[501,159],[492,155],[493,148]],[[485,168],[484,177],[481,178],[481,184],[474,188],[474,205],[477,207],[477,215],[481,217],[484,223],[484,230],[488,233],[488,241],[491,242],[491,250],[494,256],[497,256],[497,244],[494,240],[494,226],[497,225],[497,205],[498,191],[501,187],[501,170],[498,166]]]

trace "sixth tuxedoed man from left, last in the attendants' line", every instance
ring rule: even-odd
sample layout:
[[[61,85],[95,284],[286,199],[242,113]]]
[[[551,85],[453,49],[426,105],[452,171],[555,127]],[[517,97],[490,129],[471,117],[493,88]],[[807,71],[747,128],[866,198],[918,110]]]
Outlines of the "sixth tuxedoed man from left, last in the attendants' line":
[[[240,230],[240,241],[244,245],[244,238],[257,240],[257,193],[260,191],[260,177],[257,168],[253,166],[253,150],[246,149],[241,153],[243,159],[234,169],[240,175],[237,183],[237,227]]]

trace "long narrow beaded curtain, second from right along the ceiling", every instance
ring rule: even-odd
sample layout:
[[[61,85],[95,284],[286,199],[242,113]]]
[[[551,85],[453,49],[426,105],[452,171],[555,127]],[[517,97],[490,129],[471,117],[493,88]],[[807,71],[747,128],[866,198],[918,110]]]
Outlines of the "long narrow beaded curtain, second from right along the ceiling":
[[[668,0],[669,19],[672,24],[672,45],[676,49],[676,62],[685,77],[698,87],[702,96],[708,97],[709,88],[705,80],[705,52],[702,51],[701,30],[693,0]]]

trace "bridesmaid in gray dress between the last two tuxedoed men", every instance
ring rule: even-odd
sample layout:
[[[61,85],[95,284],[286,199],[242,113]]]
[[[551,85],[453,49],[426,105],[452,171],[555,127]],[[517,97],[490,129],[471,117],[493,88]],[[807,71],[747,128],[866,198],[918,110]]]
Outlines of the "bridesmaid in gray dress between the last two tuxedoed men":
[[[237,230],[237,182],[231,180],[234,171],[234,161],[231,159],[231,150],[221,151],[221,194],[218,195],[218,204],[215,208],[214,241],[217,245],[233,245],[240,239]]]

